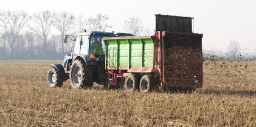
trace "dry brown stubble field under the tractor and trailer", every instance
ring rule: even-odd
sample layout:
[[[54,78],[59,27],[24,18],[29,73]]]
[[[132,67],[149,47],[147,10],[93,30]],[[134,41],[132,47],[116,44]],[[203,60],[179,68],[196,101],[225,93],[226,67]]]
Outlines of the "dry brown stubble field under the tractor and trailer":
[[[256,62],[205,61],[192,93],[47,85],[60,60],[0,61],[0,126],[256,126]]]

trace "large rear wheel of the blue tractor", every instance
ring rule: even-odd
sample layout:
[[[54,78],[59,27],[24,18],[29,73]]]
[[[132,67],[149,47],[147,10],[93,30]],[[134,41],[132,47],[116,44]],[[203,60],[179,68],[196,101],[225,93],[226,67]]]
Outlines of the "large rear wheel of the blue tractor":
[[[69,74],[72,88],[91,87],[93,85],[92,78],[92,67],[86,65],[83,59],[77,59],[72,63]]]

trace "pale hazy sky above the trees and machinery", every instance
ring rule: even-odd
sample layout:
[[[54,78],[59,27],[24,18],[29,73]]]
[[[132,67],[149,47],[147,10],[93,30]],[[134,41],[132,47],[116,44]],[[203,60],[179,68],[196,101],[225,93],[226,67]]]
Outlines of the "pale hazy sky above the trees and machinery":
[[[195,33],[203,33],[203,49],[227,50],[230,41],[240,42],[242,49],[256,51],[256,1],[255,0],[182,0],[182,1],[56,1],[56,0],[5,0],[0,10],[67,11],[84,18],[99,13],[109,16],[109,31],[124,32],[125,19],[140,18],[145,28],[155,28],[155,14],[190,16],[194,18]]]

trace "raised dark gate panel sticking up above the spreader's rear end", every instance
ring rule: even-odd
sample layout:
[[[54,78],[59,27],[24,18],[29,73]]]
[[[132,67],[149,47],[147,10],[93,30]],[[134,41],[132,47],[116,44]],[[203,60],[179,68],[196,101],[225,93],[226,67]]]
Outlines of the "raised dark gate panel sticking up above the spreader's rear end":
[[[156,30],[192,33],[190,17],[156,15]]]

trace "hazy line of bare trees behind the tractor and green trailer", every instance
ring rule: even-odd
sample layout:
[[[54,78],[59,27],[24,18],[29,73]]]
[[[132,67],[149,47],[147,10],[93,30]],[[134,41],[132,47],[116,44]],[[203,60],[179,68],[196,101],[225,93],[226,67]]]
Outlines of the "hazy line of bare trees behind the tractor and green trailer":
[[[72,43],[63,43],[65,34],[111,30],[109,16],[98,14],[87,19],[66,11],[0,11],[0,59],[61,59]],[[149,36],[139,18],[123,22],[127,33]]]

